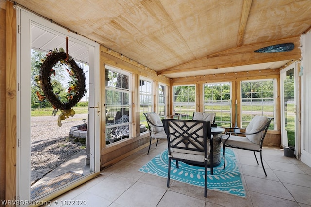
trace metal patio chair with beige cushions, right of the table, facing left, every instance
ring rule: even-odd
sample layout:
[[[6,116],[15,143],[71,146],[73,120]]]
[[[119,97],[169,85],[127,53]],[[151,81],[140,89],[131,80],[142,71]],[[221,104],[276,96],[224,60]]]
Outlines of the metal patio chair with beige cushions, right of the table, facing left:
[[[255,152],[259,152],[261,165],[265,175],[267,176],[266,170],[264,169],[262,162],[262,144],[272,120],[273,118],[270,117],[256,115],[255,117],[253,117],[253,119],[246,128],[238,128],[240,130],[238,132],[234,131],[237,128],[225,128],[225,134],[222,137],[223,157],[225,156],[225,147],[250,150],[254,152],[255,159],[258,165],[258,160]],[[241,132],[241,130],[245,130],[245,132]]]

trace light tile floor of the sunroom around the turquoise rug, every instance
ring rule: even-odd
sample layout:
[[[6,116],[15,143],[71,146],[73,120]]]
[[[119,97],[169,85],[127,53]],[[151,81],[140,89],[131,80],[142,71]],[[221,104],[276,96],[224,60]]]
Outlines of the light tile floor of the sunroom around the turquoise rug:
[[[167,147],[165,140],[104,169],[101,176],[52,200],[86,200],[88,207],[311,207],[311,168],[282,149],[265,147],[267,177],[253,152],[234,149],[247,198],[207,190],[166,178],[141,173],[138,169]],[[258,156],[259,158],[259,156]]]

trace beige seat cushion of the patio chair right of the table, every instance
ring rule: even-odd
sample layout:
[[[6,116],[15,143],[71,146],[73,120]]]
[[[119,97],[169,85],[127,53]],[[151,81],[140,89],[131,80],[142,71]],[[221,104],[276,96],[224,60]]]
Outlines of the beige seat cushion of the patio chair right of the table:
[[[228,135],[223,135],[222,143],[225,143],[225,140],[228,138]],[[239,147],[250,150],[260,150],[260,145],[251,142],[248,138],[242,136],[230,135],[230,138],[226,141],[226,145],[232,147]]]

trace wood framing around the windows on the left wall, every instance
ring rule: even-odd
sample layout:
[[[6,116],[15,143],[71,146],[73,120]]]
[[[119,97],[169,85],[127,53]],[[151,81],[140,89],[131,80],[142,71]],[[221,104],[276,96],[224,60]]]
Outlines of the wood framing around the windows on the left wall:
[[[132,114],[133,114],[133,137],[121,140],[117,143],[110,144],[108,146],[105,145],[105,123],[102,121],[101,128],[101,167],[105,168],[110,166],[122,159],[126,156],[129,156],[138,150],[149,145],[149,133],[145,132],[140,135],[140,111],[139,111],[139,80],[140,76],[144,76],[146,78],[152,79],[154,81],[154,103],[157,102],[157,84],[161,82],[163,84],[169,85],[170,79],[167,77],[160,75],[158,76],[156,72],[148,67],[145,67],[138,62],[131,60],[123,55],[120,55],[117,52],[109,50],[104,46],[100,47],[100,61],[101,61],[101,101],[102,107],[105,104],[105,77],[104,77],[104,69],[105,65],[109,65],[118,69],[122,69],[124,71],[132,73],[132,88],[136,93],[132,94]],[[157,105],[157,103],[155,104]],[[154,108],[157,111],[157,108]],[[102,108],[102,112],[104,112]],[[105,114],[102,114],[102,119],[105,120]],[[155,140],[153,140],[153,143]]]

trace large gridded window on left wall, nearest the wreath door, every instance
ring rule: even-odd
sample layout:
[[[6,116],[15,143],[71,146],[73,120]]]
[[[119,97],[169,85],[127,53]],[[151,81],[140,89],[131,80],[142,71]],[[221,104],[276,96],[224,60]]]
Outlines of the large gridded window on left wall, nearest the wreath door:
[[[106,66],[106,144],[131,135],[129,74]]]

